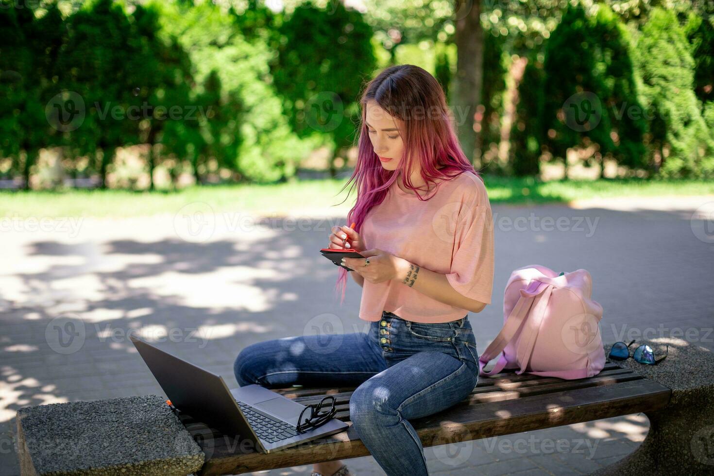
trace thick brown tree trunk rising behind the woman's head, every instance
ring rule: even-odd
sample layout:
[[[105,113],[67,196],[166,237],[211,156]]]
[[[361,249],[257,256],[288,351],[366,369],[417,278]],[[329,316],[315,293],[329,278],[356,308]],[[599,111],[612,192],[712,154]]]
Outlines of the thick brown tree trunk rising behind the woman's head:
[[[481,103],[483,85],[483,29],[481,28],[481,1],[456,0],[456,78],[453,107],[458,123],[458,140],[471,163],[476,154],[476,131],[473,116]]]

